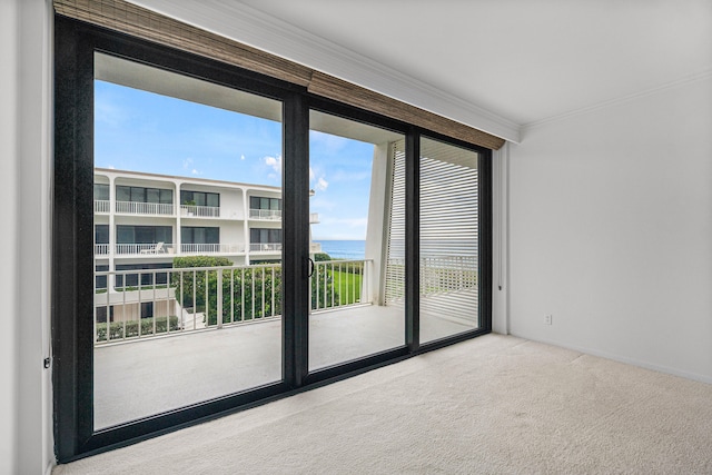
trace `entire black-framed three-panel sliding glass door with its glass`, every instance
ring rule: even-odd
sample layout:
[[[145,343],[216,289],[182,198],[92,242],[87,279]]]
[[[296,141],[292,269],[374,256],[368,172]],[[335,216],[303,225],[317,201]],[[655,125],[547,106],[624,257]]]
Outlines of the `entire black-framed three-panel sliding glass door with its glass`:
[[[56,32],[59,461],[488,331],[488,150]]]

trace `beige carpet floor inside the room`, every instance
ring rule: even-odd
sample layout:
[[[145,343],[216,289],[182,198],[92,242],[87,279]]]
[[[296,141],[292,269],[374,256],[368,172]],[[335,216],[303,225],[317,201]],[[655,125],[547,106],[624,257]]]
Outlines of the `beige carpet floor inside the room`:
[[[69,474],[712,474],[712,385],[486,335]]]

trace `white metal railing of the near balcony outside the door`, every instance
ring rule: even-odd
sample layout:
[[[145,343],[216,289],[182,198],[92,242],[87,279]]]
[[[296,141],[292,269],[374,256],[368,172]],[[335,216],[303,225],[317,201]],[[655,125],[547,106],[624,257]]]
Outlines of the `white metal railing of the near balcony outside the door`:
[[[370,260],[316,263],[314,311],[370,304]],[[281,316],[281,266],[96,273],[95,343],[218,329]],[[108,291],[107,291],[108,290]]]

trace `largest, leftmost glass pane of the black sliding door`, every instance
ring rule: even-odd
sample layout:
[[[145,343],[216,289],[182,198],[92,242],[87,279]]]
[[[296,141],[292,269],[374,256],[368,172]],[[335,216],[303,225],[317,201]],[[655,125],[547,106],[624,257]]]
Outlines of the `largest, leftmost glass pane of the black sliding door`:
[[[281,380],[281,102],[95,68],[95,429]]]

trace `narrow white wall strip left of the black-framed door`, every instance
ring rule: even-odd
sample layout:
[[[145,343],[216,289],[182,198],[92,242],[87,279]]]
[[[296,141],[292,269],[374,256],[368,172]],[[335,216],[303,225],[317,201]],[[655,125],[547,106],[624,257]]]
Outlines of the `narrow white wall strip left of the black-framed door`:
[[[50,36],[44,0],[0,2],[0,473],[52,459],[49,354]]]

